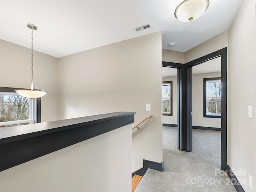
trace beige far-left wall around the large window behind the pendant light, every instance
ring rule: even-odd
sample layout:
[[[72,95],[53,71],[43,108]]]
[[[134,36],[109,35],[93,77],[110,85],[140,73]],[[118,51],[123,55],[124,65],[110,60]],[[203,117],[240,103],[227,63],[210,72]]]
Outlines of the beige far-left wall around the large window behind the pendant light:
[[[36,48],[36,44],[34,45]],[[31,83],[31,50],[0,40],[0,86],[28,88]],[[57,58],[34,51],[34,89],[42,97],[42,122],[58,120]]]

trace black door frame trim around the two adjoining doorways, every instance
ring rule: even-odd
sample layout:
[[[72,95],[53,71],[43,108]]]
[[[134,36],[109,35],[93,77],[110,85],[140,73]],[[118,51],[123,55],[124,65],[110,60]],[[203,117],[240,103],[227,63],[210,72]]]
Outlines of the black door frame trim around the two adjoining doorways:
[[[178,70],[178,149],[192,151],[192,67],[221,57],[221,169],[227,165],[227,48],[220,49],[186,64],[163,62]]]

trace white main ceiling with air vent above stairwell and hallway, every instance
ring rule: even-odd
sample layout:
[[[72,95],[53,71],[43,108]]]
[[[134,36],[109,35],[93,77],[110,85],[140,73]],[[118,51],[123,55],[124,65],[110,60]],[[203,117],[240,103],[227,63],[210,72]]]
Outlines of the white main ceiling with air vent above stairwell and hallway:
[[[162,31],[163,48],[186,52],[227,30],[242,0],[210,0],[208,10],[189,23],[174,10],[183,0],[0,0],[0,39],[57,58]],[[136,32],[148,24],[152,28]],[[175,42],[170,48],[168,44]]]

